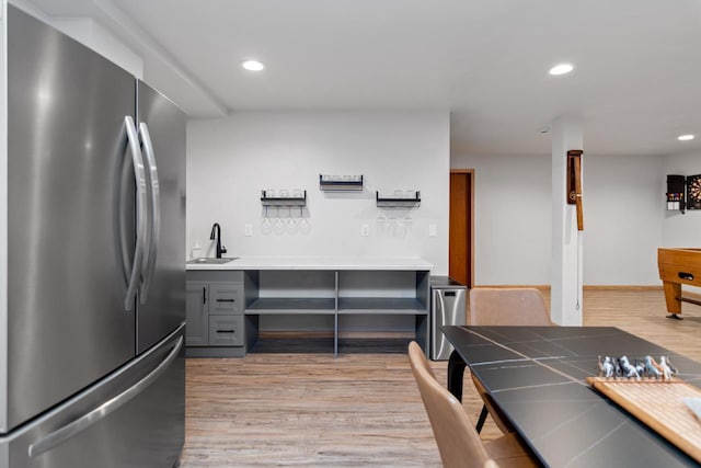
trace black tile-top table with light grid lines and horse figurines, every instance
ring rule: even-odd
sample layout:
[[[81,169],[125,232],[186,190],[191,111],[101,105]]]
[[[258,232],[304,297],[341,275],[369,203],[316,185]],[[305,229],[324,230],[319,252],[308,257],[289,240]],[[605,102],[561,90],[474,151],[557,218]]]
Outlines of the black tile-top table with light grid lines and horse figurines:
[[[613,327],[443,327],[455,351],[448,388],[462,398],[466,364],[520,436],[551,467],[699,466],[590,388],[597,356],[669,356],[701,385],[701,364]],[[699,422],[701,431],[701,422]]]

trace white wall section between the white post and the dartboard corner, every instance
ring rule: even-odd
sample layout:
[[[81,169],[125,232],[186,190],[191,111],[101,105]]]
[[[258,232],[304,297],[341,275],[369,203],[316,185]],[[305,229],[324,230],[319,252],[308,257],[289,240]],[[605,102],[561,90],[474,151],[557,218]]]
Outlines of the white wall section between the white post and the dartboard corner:
[[[584,284],[662,285],[663,158],[594,156],[584,164]]]

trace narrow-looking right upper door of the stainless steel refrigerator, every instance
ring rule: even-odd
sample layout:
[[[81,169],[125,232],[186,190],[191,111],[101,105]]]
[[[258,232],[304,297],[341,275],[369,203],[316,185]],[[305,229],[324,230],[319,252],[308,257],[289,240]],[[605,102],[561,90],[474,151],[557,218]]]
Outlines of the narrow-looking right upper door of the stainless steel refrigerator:
[[[141,81],[137,81],[137,117],[151,204],[137,318],[141,353],[185,320],[186,117]]]

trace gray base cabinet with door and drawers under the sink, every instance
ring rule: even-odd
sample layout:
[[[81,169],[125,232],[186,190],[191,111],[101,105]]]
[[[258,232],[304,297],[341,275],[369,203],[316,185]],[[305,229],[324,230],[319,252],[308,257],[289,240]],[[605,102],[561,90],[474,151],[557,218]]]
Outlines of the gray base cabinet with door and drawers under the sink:
[[[243,356],[245,324],[243,273],[187,272],[187,355]]]

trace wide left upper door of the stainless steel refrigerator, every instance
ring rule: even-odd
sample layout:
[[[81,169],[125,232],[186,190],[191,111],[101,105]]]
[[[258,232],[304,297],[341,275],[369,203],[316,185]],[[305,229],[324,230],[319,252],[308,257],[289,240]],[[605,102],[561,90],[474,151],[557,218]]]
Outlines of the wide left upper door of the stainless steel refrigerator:
[[[124,226],[134,224],[134,195],[120,196],[131,158],[124,121],[134,114],[134,78],[12,5],[8,28],[8,374],[0,433],[111,373],[136,349],[120,251],[134,249],[134,227]],[[120,216],[120,205],[130,205],[130,215]]]

